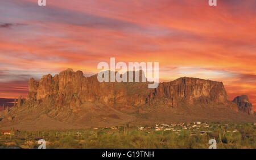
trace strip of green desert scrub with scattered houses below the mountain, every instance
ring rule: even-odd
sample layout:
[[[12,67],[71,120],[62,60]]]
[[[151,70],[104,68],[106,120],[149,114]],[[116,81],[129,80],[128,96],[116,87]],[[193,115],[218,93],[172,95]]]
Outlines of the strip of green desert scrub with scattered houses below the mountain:
[[[27,132],[11,129],[0,136],[0,148],[256,148],[253,123],[156,124],[155,126],[116,126],[69,131]]]

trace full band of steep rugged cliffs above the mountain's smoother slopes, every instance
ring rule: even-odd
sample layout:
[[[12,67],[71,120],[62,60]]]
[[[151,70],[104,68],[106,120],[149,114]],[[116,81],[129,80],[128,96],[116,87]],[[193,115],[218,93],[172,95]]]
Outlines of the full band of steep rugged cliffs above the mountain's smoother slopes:
[[[86,101],[100,102],[115,109],[127,109],[140,105],[226,104],[230,106],[221,82],[182,77],[168,83],[160,83],[156,89],[148,89],[147,83],[99,83],[97,75],[85,77],[72,69],[59,75],[46,75],[40,81],[30,79],[28,100],[40,103],[48,98],[56,107],[68,106],[79,110]],[[231,105],[233,109],[237,107]]]

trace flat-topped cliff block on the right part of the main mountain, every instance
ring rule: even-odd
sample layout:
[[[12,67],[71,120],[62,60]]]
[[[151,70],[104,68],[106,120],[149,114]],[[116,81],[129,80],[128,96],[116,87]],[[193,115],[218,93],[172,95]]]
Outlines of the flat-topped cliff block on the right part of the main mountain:
[[[228,96],[221,82],[190,77],[160,83],[148,99],[152,101],[163,97],[166,98],[168,104],[174,107],[177,107],[180,102],[188,104],[225,104],[228,102]]]

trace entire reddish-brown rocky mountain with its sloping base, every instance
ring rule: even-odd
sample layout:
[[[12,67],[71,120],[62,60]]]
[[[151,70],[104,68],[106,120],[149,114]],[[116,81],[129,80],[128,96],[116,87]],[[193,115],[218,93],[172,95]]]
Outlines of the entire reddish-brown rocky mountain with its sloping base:
[[[144,76],[142,71],[138,71]],[[133,72],[135,74],[135,72]],[[68,69],[28,82],[27,98],[0,112],[0,128],[27,131],[171,122],[256,122],[247,96],[228,100],[221,82],[191,77],[159,83],[100,83]]]

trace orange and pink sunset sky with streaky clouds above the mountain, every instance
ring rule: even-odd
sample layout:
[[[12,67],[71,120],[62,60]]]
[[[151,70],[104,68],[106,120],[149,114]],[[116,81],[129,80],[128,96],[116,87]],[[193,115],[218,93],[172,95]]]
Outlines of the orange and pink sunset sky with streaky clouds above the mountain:
[[[99,62],[159,62],[160,81],[222,81],[256,106],[256,1],[0,1],[0,97],[27,95],[30,77]]]

